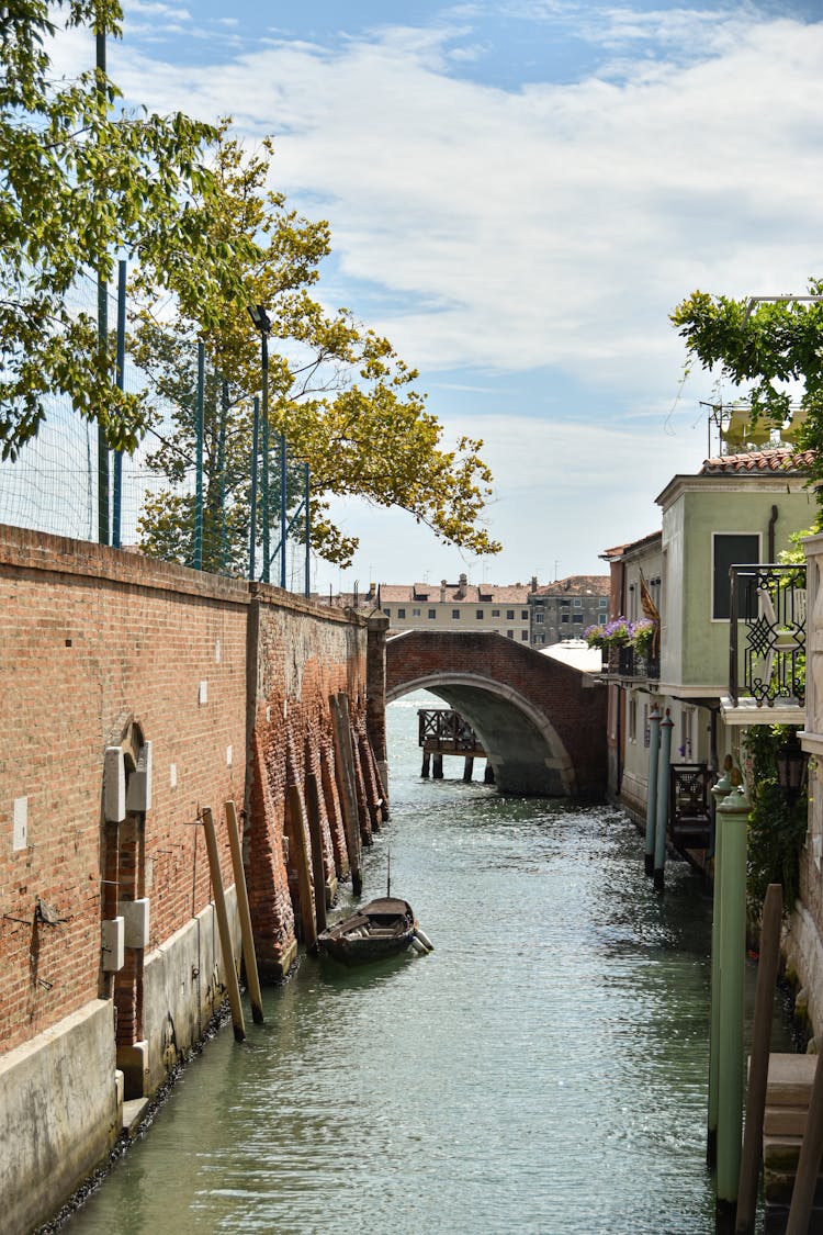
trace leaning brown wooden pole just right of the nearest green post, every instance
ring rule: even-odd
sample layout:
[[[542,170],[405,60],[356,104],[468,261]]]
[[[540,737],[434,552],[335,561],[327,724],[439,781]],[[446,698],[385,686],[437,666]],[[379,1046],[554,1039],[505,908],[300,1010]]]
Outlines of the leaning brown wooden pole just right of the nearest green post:
[[[758,987],[754,998],[751,1062],[749,1063],[745,1131],[743,1134],[743,1158],[740,1162],[734,1235],[753,1235],[758,1213],[758,1177],[763,1157],[763,1120],[766,1109],[769,1046],[771,1041],[777,965],[780,961],[780,919],[782,911],[782,888],[779,883],[770,883],[763,903],[763,923],[760,925],[760,960],[758,962]]]

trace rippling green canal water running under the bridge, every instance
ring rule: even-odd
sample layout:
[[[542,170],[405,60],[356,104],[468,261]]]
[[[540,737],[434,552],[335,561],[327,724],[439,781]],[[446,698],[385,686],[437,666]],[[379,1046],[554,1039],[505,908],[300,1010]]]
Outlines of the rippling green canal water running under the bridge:
[[[304,956],[246,1044],[226,1029],[185,1068],[73,1235],[714,1230],[707,885],[671,863],[655,895],[614,809],[502,798],[457,760],[422,782],[432,701],[389,709],[364,895],[390,848],[434,952]]]

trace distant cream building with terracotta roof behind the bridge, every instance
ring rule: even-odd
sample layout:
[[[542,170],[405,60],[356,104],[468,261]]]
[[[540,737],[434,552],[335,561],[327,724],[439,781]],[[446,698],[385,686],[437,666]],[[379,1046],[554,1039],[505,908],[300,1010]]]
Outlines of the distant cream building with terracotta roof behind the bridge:
[[[537,588],[513,583],[381,583],[376,604],[392,634],[403,630],[492,631],[517,642],[529,642],[529,594]]]

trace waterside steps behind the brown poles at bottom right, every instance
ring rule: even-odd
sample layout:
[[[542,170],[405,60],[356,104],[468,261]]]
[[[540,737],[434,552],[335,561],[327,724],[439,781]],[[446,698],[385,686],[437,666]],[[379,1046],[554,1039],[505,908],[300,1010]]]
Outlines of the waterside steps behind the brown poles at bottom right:
[[[817,1055],[769,1056],[763,1120],[764,1235],[779,1235],[786,1228],[816,1067]],[[823,1235],[823,1173],[818,1174],[808,1233]]]

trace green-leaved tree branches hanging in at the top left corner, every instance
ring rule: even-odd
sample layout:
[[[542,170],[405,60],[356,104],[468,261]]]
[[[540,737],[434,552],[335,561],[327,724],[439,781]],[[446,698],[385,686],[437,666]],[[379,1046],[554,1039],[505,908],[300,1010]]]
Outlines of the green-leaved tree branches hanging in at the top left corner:
[[[116,36],[121,20],[117,0],[0,7],[0,446],[12,459],[54,394],[99,421],[112,447],[138,441],[142,400],[116,389],[96,321],[72,304],[83,275],[109,279],[125,251],[162,287],[190,266],[191,294],[206,305],[237,293],[238,241],[217,242],[204,226],[213,130],[181,114],[115,115],[118,90],[96,68],[54,83],[58,11],[95,33]]]

